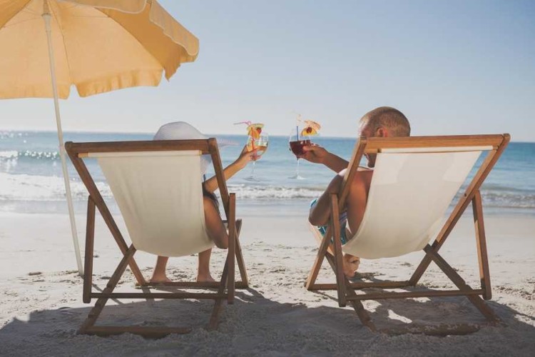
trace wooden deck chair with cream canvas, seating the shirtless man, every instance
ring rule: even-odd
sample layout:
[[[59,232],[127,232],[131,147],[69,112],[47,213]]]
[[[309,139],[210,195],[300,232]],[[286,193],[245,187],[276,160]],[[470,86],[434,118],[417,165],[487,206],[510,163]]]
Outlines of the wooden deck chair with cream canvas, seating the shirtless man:
[[[310,291],[336,290],[339,306],[346,306],[349,301],[362,324],[372,331],[377,331],[377,328],[362,306],[363,300],[467,296],[491,323],[499,321],[496,314],[481,299],[491,298],[491,283],[479,188],[508,143],[509,134],[360,138],[340,191],[331,195],[331,218],[325,236],[321,236],[317,228],[311,226],[320,240],[320,248],[305,284],[306,288]],[[459,188],[483,151],[486,151],[486,157],[443,224],[447,208],[454,201]],[[349,192],[347,183],[355,176],[363,154],[377,154],[367,206],[355,236],[342,246],[338,216],[340,210],[345,207]],[[439,254],[439,249],[470,203],[474,213],[481,288],[468,286]],[[329,244],[333,237],[334,247],[330,252]],[[434,242],[429,243],[432,238],[435,238]],[[350,282],[342,271],[342,252],[374,259],[402,256],[421,249],[425,256],[411,278],[406,281]],[[336,283],[316,283],[324,258],[327,258],[335,273]],[[387,290],[416,286],[432,261],[457,286],[456,290],[355,293],[365,288]],[[465,332],[473,330],[473,327],[462,324],[430,327],[425,326],[423,331],[417,328],[406,332],[442,335],[459,333],[459,329]]]

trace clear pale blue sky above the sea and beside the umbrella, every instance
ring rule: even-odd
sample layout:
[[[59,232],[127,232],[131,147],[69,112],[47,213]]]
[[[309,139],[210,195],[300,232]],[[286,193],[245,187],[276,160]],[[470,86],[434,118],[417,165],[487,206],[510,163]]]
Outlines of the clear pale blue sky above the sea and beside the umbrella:
[[[377,106],[413,135],[535,141],[535,1],[159,0],[200,40],[197,61],[158,87],[60,101],[65,131],[152,133],[189,121],[287,135],[302,114],[356,136]],[[0,79],[1,80],[1,79]],[[0,100],[0,129],[56,129],[50,99]]]

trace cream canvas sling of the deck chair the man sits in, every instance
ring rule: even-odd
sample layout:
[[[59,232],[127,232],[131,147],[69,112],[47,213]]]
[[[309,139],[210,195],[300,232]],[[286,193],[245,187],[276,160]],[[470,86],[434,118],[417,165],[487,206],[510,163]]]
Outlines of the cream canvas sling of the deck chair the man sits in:
[[[492,146],[422,149],[377,154],[365,215],[342,251],[371,259],[422,250],[481,152]]]

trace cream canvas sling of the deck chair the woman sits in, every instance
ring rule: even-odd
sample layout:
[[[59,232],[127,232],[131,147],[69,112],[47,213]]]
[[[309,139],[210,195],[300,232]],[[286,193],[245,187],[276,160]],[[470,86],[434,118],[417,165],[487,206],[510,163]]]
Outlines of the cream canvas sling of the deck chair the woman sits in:
[[[212,248],[205,227],[200,151],[95,153],[133,246],[159,256]]]

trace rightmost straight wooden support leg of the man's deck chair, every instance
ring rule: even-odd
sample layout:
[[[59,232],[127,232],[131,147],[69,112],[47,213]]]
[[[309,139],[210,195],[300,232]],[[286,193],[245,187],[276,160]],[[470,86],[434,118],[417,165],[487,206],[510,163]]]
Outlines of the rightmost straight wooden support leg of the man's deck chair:
[[[483,206],[481,204],[481,193],[476,191],[472,199],[472,209],[474,211],[474,227],[476,229],[477,241],[477,258],[479,261],[479,278],[481,279],[481,288],[484,291],[483,298],[490,300],[492,298],[489,258],[486,253],[485,226],[483,221]]]

